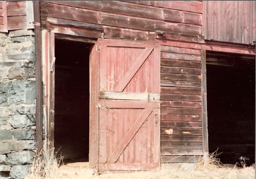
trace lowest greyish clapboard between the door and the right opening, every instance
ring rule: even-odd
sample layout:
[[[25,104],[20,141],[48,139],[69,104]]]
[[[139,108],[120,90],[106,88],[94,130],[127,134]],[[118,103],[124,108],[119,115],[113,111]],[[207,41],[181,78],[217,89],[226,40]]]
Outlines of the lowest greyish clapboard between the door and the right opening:
[[[202,156],[189,155],[189,156],[162,156],[162,162],[164,163],[194,163],[198,162]]]

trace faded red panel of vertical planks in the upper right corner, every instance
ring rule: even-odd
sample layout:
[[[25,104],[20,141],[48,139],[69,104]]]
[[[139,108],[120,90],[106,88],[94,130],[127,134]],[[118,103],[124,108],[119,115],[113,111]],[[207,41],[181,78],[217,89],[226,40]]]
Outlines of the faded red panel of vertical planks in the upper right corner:
[[[252,44],[255,42],[255,1],[205,1],[206,40]]]

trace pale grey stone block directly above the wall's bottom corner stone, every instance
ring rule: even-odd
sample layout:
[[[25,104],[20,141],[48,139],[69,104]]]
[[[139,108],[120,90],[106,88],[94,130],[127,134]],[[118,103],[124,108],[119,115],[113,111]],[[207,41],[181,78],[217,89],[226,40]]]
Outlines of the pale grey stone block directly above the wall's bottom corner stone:
[[[12,165],[30,164],[33,162],[35,153],[33,151],[21,151],[7,154],[7,157]]]

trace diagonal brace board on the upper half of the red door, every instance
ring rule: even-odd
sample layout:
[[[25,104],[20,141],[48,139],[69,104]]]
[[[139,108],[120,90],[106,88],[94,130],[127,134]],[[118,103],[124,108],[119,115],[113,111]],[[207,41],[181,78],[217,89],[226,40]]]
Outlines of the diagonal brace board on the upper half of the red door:
[[[128,72],[124,74],[124,80],[122,80],[117,87],[115,88],[115,92],[122,92],[126,85],[130,82],[132,77],[136,74],[139,70],[140,66],[144,63],[144,61],[148,58],[150,53],[153,51],[154,48],[145,48],[144,51],[140,54],[138,59],[136,60],[133,67],[130,68]]]

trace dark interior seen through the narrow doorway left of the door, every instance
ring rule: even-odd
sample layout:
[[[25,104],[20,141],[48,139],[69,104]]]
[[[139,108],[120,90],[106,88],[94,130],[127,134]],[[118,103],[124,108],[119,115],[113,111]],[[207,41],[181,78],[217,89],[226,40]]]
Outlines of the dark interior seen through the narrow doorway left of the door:
[[[90,44],[55,39],[54,147],[63,161],[89,160]]]

